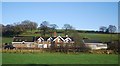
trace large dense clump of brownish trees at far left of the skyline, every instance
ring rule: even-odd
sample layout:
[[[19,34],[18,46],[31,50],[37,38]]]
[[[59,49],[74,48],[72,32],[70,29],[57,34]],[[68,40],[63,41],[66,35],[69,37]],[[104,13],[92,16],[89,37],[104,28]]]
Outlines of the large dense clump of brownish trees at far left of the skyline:
[[[3,36],[15,36],[26,32],[27,30],[32,31],[37,29],[38,24],[33,21],[25,20],[21,23],[7,24],[6,26],[1,24],[1,26]]]

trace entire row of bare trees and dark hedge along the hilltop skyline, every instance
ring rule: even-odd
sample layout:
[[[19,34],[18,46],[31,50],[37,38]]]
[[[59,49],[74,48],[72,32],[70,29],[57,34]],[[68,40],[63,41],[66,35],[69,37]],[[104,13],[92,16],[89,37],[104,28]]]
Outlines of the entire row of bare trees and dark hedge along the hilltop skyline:
[[[72,30],[75,30],[73,26],[70,24],[64,24],[62,29],[63,31],[57,31],[58,26],[56,24],[50,24],[48,21],[43,21],[39,26],[36,22],[30,20],[24,20],[20,23],[0,24],[1,33],[3,36],[16,36],[27,30],[40,30],[42,36],[46,36],[46,34],[50,34],[52,36],[53,32],[60,32],[64,35],[68,35]],[[109,25],[108,27],[101,26],[99,31],[85,31],[85,30],[76,30],[77,32],[83,33],[115,33],[117,30],[116,26]]]

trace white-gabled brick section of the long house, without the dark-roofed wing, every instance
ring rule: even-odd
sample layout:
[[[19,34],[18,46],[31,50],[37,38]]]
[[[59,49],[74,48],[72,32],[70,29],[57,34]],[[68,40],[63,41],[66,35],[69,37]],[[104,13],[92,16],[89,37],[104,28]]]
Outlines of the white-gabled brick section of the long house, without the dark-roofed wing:
[[[57,37],[56,36],[54,36],[54,37],[36,37],[36,41],[39,44],[40,48],[50,48],[52,42],[54,42],[55,46],[57,46],[57,47],[59,47],[61,44],[65,44],[65,43],[74,43],[72,37],[61,37],[61,36],[57,36]]]

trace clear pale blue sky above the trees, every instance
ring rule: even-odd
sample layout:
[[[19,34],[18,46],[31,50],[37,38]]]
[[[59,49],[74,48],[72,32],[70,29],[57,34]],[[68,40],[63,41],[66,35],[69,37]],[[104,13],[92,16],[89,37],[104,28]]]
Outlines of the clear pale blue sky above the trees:
[[[70,24],[78,30],[99,30],[100,26],[118,26],[117,2],[3,2],[2,24],[24,20],[48,21],[62,28]]]

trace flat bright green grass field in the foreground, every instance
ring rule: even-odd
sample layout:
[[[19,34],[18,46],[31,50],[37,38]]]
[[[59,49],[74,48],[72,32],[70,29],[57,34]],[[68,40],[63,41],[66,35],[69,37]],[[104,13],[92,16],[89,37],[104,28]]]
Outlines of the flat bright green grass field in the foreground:
[[[3,53],[3,64],[118,64],[115,54]]]

